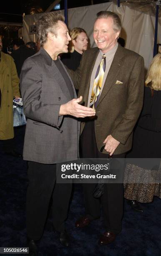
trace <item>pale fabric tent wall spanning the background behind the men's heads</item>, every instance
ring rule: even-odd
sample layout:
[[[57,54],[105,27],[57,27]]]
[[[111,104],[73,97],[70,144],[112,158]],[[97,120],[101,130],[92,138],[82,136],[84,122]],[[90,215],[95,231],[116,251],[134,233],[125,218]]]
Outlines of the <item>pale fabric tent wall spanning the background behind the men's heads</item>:
[[[96,14],[101,10],[113,11],[119,15],[123,26],[120,36],[126,40],[125,47],[143,56],[145,68],[148,69],[153,58],[155,17],[133,10],[126,5],[121,5],[118,8],[113,2],[68,9],[69,29],[84,28],[90,38],[91,47],[96,46],[93,40],[93,24]],[[61,13],[63,14],[64,11],[62,10]],[[29,26],[36,23],[41,15],[43,13],[24,16],[23,39],[25,42],[37,39],[37,35],[35,38],[33,35],[29,35]],[[161,18],[158,18],[157,41],[161,44]]]

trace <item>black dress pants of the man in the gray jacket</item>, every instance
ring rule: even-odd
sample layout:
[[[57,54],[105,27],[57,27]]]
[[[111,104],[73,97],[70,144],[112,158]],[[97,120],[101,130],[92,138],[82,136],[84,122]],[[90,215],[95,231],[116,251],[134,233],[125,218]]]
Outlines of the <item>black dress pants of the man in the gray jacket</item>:
[[[39,240],[53,197],[53,226],[61,232],[65,229],[72,184],[56,183],[56,164],[28,162],[29,185],[27,190],[27,236]]]

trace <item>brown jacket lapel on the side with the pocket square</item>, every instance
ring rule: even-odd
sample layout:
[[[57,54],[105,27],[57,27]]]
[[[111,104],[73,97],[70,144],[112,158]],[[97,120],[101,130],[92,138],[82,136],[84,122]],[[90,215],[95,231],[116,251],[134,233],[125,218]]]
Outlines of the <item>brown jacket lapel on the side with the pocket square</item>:
[[[101,92],[101,96],[100,99],[98,101],[98,105],[101,103],[101,101],[103,100],[103,98],[106,96],[106,94],[108,93],[108,91],[110,90],[111,86],[113,85],[113,83],[116,80],[117,74],[120,71],[120,68],[122,66],[122,58],[123,58],[123,48],[118,45],[118,49],[116,51],[116,54],[113,58],[111,67],[109,69],[108,75],[106,77],[105,80],[105,84],[103,86],[103,90]],[[97,107],[98,107],[97,105]]]

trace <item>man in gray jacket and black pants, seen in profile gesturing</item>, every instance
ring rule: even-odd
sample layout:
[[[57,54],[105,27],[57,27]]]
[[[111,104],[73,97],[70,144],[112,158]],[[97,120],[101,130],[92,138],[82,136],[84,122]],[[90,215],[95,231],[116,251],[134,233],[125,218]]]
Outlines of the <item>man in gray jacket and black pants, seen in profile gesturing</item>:
[[[43,234],[50,198],[53,197],[53,226],[60,242],[69,245],[65,231],[71,184],[56,183],[56,164],[78,158],[77,118],[95,115],[79,105],[73,82],[58,54],[68,52],[71,40],[64,17],[46,13],[38,25],[40,51],[28,58],[20,75],[27,120],[23,157],[28,161],[27,235],[31,255]]]

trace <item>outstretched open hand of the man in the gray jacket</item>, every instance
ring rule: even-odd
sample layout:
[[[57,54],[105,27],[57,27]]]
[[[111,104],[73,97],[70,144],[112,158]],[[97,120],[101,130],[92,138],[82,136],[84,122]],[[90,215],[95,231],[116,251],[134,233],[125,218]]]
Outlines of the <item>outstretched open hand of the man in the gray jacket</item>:
[[[76,118],[85,118],[86,116],[93,116],[96,114],[92,108],[87,108],[78,104],[81,101],[82,96],[61,105],[59,115],[72,115]]]

